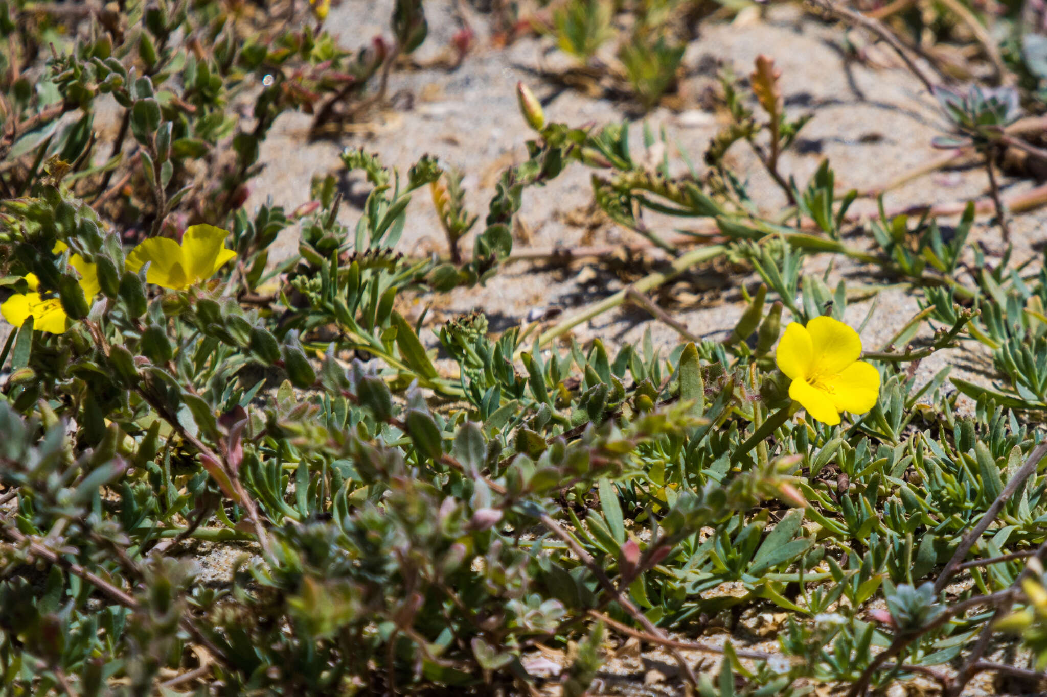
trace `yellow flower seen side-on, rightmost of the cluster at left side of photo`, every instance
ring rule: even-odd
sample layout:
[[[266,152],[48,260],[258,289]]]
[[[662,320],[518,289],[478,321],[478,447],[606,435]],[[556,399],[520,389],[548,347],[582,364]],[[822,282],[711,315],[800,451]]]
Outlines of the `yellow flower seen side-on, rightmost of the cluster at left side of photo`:
[[[205,281],[237,256],[223,246],[229,233],[213,225],[194,225],[179,245],[166,237],[151,237],[131,250],[127,269],[135,274],[147,262],[146,280],[172,291],[184,291]]]

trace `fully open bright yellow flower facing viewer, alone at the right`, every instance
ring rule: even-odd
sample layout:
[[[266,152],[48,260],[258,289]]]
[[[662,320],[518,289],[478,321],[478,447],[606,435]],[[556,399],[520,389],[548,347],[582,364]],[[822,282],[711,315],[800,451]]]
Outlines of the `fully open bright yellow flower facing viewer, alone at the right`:
[[[831,317],[816,317],[804,327],[793,322],[778,344],[778,367],[793,379],[788,396],[811,417],[836,425],[840,412],[865,414],[879,396],[879,373],[859,361],[857,332]]]

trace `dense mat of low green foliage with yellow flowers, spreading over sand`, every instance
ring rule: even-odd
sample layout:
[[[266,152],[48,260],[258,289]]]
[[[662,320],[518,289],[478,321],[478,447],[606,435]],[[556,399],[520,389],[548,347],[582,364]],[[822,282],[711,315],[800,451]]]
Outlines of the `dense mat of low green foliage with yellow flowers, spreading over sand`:
[[[956,695],[980,671],[1043,677],[1047,277],[1009,251],[984,263],[966,241],[973,206],[948,234],[883,207],[853,226],[857,194],[838,195],[830,163],[804,188],[783,173],[805,118],[786,116],[761,56],[751,96],[725,78],[731,122],[703,173],[671,175],[664,132],[645,130],[663,157],[642,158],[627,124],[553,121],[519,86],[534,138],[482,226],[454,170],[425,157],[401,173],[357,148],[341,158],[371,187],[355,227],[334,176],[290,214],[246,211],[237,192],[275,117],[318,103],[313,88],[342,103],[356,79],[342,68],[370,76],[392,59],[351,59],[309,24],[259,20],[238,41],[246,20],[219,3],[128,4],[136,31],[102,15],[92,37],[54,46],[48,87],[4,85],[5,694],[537,694],[552,675],[580,696],[625,636],[664,647],[701,695],[856,696],[917,676]],[[47,36],[9,24],[25,55]],[[398,2],[393,27],[394,53],[414,50],[421,6]],[[177,37],[209,48],[179,52]],[[247,70],[272,78],[253,126],[226,111]],[[125,125],[92,169],[99,93]],[[741,140],[788,198],[773,219],[725,157]],[[201,164],[215,168],[198,182]],[[477,306],[426,344],[409,301],[490,280],[524,191],[569,166],[600,169],[597,204],[665,265],[553,326],[494,331]],[[111,172],[127,182],[109,194]],[[448,258],[398,251],[423,187]],[[718,238],[669,240],[645,210]],[[292,225],[297,254],[273,268]],[[879,286],[832,285],[805,271],[815,254],[868,264],[920,311],[864,347],[845,312]],[[717,259],[762,282],[733,275],[744,308],[722,341],[656,346],[648,330],[615,350],[572,334]],[[998,385],[948,382],[949,367],[916,378],[918,362],[975,343]],[[217,568],[216,549],[236,561]],[[693,638],[755,614],[784,617],[775,652]],[[1031,667],[986,656],[1002,632]],[[538,666],[548,655],[560,660]]]

